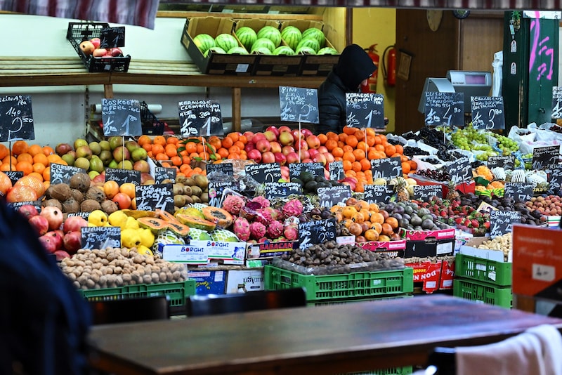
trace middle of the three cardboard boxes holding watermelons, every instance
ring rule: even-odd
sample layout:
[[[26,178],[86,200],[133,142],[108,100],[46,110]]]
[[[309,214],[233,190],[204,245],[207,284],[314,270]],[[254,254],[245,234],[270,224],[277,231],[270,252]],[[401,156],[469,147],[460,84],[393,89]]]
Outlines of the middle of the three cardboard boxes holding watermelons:
[[[264,26],[280,27],[275,20],[237,20],[235,32],[240,27],[250,27],[255,32]],[[281,41],[281,45],[287,45]],[[303,55],[256,55],[256,64],[252,74],[256,76],[296,77],[301,71]]]

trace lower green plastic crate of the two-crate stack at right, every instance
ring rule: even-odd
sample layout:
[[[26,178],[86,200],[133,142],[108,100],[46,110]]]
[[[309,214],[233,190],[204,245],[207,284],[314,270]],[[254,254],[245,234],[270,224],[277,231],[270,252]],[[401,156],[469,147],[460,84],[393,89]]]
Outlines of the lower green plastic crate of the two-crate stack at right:
[[[479,301],[488,305],[511,308],[513,293],[511,287],[497,287],[493,284],[466,279],[453,280],[452,293],[455,297]]]

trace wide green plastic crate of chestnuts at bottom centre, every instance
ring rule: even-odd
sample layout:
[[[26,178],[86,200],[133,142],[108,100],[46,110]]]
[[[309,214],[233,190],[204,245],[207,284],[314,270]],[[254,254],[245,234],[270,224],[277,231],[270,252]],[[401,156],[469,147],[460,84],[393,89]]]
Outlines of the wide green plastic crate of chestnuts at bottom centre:
[[[264,285],[267,290],[304,287],[306,301],[342,300],[407,294],[414,291],[414,269],[351,272],[338,275],[302,275],[266,265]]]

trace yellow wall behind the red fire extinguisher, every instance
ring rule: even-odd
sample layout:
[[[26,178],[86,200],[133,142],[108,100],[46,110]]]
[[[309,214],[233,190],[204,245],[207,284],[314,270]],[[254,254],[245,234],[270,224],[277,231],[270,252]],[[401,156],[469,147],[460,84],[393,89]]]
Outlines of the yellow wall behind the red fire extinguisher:
[[[388,117],[387,131],[394,131],[395,89],[384,84],[382,55],[387,46],[396,43],[396,9],[353,8],[352,43],[363,48],[377,44],[380,58],[377,76],[377,93],[384,96],[384,116]]]

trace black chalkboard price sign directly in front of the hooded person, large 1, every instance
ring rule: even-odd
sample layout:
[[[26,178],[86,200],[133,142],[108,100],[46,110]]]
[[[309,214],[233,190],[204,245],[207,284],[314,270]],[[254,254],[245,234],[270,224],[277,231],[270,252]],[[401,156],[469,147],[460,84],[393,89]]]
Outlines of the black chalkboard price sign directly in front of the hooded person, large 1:
[[[346,93],[346,124],[384,129],[384,97],[376,93]]]

